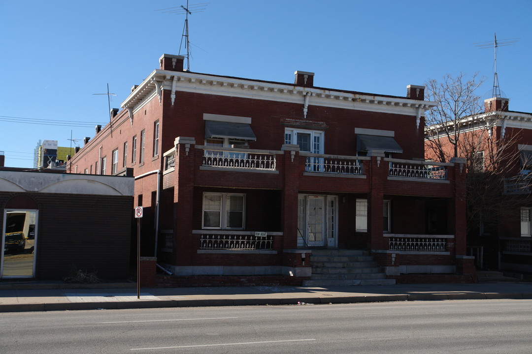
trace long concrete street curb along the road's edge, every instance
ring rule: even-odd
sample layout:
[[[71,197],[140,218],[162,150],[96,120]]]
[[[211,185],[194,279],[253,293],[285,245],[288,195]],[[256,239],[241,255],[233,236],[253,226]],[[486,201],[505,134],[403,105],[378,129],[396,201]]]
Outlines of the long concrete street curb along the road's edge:
[[[304,304],[355,304],[393,301],[430,300],[486,300],[486,299],[532,299],[532,293],[416,293],[371,296],[339,296],[312,298],[243,298],[243,299],[191,299],[191,300],[146,300],[146,301],[105,301],[95,303],[43,303],[43,304],[2,304],[0,313],[45,312],[96,309],[134,309],[170,307],[210,307],[210,306],[253,306],[253,305],[304,305]]]

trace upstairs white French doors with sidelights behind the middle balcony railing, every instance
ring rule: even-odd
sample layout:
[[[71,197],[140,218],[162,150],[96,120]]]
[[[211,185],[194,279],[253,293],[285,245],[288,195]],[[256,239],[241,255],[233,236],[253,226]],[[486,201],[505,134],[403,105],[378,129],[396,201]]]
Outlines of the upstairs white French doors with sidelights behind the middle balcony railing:
[[[299,145],[300,151],[303,152],[323,154],[323,132],[306,129],[286,128],[285,144]],[[323,158],[311,156],[307,157],[305,169],[307,171],[322,171]]]

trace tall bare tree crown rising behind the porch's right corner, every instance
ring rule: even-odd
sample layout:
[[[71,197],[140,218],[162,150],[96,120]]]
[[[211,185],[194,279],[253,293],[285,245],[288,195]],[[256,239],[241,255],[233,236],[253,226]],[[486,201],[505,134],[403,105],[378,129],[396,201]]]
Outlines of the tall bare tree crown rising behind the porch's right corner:
[[[475,91],[484,81],[485,77],[478,77],[478,73],[469,80],[460,73],[456,77],[447,74],[442,82],[432,79],[425,84],[427,99],[436,102],[425,117],[425,125],[427,148],[437,160],[448,162],[459,157],[462,126],[483,111]]]

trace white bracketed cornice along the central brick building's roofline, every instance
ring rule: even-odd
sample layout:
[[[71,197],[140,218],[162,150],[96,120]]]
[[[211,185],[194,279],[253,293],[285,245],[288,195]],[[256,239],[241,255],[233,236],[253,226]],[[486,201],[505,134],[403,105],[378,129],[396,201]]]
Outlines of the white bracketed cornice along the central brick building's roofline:
[[[165,70],[153,71],[121,104],[122,108],[138,109],[146,99],[160,96],[161,90],[215,94],[219,96],[261,99],[289,103],[305,103],[310,94],[309,105],[357,109],[416,116],[419,109],[426,111],[434,107],[430,101],[408,98],[370,96],[365,94],[306,88],[290,84],[259,82],[234,77],[220,77],[190,72]]]

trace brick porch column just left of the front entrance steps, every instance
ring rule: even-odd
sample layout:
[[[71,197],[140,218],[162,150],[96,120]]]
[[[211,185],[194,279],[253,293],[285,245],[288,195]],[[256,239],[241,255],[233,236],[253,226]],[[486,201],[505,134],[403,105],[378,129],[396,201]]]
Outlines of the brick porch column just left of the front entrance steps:
[[[295,144],[284,144],[281,148],[284,155],[284,187],[281,194],[282,215],[282,249],[297,248],[297,195],[301,175],[300,147]]]

